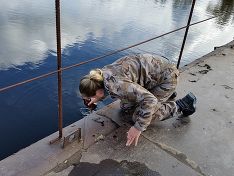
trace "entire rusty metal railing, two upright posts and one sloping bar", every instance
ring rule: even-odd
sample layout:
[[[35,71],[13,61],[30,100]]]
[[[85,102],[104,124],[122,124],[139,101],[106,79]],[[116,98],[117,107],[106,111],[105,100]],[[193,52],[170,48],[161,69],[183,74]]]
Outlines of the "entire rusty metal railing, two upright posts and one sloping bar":
[[[183,38],[183,42],[182,42],[182,46],[181,46],[181,50],[180,50],[179,59],[178,59],[178,62],[177,62],[177,68],[179,68],[180,61],[181,61],[182,54],[183,54],[183,50],[184,50],[184,46],[185,46],[185,42],[186,42],[186,38],[187,38],[187,34],[188,34],[188,31],[189,31],[189,27],[193,26],[193,25],[196,25],[196,24],[199,24],[199,23],[203,23],[203,22],[211,20],[213,18],[216,18],[216,16],[213,16],[213,17],[210,17],[210,18],[207,18],[207,19],[204,19],[204,20],[201,20],[201,21],[198,21],[198,22],[190,24],[191,19],[192,19],[192,15],[193,15],[193,10],[194,10],[194,7],[195,7],[195,2],[196,2],[196,0],[192,1],[191,10],[190,10],[190,13],[189,13],[189,18],[188,18],[188,22],[187,22],[186,26],[174,29],[172,31],[169,31],[167,33],[158,35],[156,37],[152,37],[150,39],[141,41],[139,43],[136,43],[136,44],[133,44],[133,45],[130,45],[130,46],[127,46],[127,47],[124,47],[124,48],[121,48],[121,49],[109,52],[109,53],[107,53],[105,55],[102,55],[102,56],[99,56],[99,57],[95,57],[95,58],[91,58],[91,59],[89,59],[87,61],[83,61],[83,62],[80,62],[80,63],[77,63],[77,64],[73,64],[73,65],[70,65],[70,66],[67,66],[67,67],[62,67],[62,64],[61,64],[62,57],[61,57],[60,0],[55,0],[55,10],[56,10],[56,40],[57,40],[57,70],[54,70],[54,71],[46,73],[46,74],[42,74],[42,75],[37,76],[37,77],[33,77],[31,79],[24,80],[24,81],[21,81],[21,82],[18,82],[18,83],[15,83],[15,84],[3,87],[3,88],[0,88],[0,93],[3,92],[3,91],[6,91],[6,90],[12,89],[14,87],[21,86],[23,84],[35,81],[35,80],[39,80],[39,79],[42,79],[42,78],[45,78],[45,77],[57,74],[57,79],[58,79],[58,116],[59,116],[58,131],[59,131],[59,136],[55,140],[51,141],[51,143],[56,142],[56,141],[60,140],[62,138],[62,136],[63,136],[62,72],[65,71],[65,70],[74,68],[74,67],[78,67],[80,65],[87,64],[89,62],[94,62],[94,61],[103,59],[105,57],[114,55],[116,53],[119,53],[119,52],[128,50],[130,48],[136,47],[138,45],[142,45],[144,43],[148,43],[150,41],[153,41],[153,40],[158,39],[160,37],[163,37],[165,35],[168,35],[168,34],[171,34],[171,33],[177,32],[177,31],[180,31],[182,29],[186,29],[185,34],[184,34],[184,38]]]

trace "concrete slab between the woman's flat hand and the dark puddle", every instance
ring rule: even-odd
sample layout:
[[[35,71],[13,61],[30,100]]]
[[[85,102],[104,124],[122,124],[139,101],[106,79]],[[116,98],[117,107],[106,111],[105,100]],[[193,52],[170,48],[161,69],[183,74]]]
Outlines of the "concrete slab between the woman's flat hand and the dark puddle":
[[[159,149],[146,138],[142,137],[137,147],[126,147],[126,132],[128,129],[129,127],[120,127],[103,141],[99,141],[91,146],[87,152],[82,154],[81,163],[98,164],[105,159],[112,159],[112,161],[117,162],[127,160],[127,162],[139,162],[144,164],[149,170],[156,171],[159,175],[200,175],[198,172]],[[79,167],[79,164],[76,167]],[[137,170],[137,167],[135,170]],[[79,169],[77,168],[76,174],[79,174],[78,171]],[[99,172],[104,173],[104,171],[105,169]],[[73,172],[75,173],[75,171]],[[108,174],[115,175],[116,173],[110,171]],[[137,174],[140,175],[140,173],[136,173],[136,175]]]

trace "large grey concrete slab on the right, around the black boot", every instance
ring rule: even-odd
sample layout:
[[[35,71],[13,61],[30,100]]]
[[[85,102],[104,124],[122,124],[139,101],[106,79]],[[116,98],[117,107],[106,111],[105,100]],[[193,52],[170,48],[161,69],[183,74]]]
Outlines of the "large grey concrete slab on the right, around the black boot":
[[[172,119],[155,123],[145,135],[183,151],[206,175],[231,176],[234,173],[234,50],[225,48],[204,59],[181,74],[177,88],[180,97],[192,91],[198,98],[197,112],[190,122],[185,125],[186,122]],[[208,72],[204,74],[202,70]]]

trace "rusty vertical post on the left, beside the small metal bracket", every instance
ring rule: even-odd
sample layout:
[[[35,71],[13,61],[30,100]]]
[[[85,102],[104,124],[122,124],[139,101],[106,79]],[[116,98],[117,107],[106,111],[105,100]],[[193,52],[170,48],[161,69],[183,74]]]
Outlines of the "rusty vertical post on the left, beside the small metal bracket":
[[[60,30],[60,0],[55,0],[56,10],[56,40],[57,40],[57,69],[61,69],[61,30]],[[59,138],[63,136],[63,111],[62,111],[62,72],[58,72],[58,129]]]

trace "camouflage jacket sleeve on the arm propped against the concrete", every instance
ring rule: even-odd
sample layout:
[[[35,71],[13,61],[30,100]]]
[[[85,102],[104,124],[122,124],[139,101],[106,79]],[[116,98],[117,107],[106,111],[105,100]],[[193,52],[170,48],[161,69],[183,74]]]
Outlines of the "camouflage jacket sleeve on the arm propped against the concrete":
[[[157,98],[139,84],[125,79],[115,79],[108,85],[109,91],[119,99],[136,103],[133,113],[134,127],[140,131],[146,130],[152,120],[152,115],[158,109]]]

